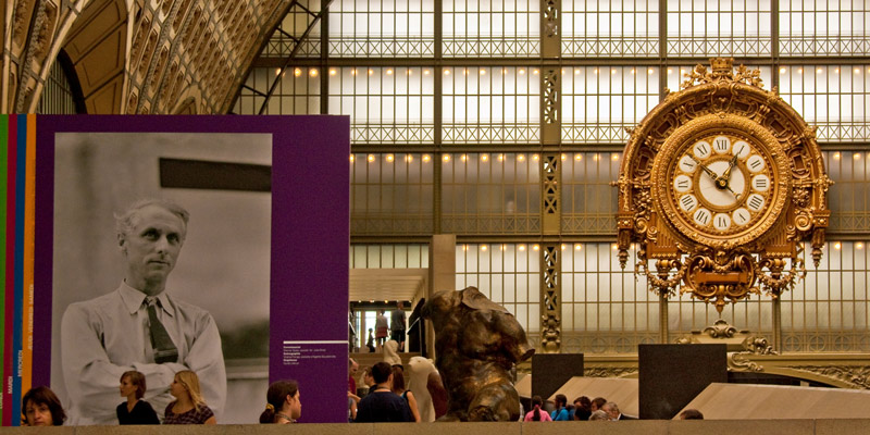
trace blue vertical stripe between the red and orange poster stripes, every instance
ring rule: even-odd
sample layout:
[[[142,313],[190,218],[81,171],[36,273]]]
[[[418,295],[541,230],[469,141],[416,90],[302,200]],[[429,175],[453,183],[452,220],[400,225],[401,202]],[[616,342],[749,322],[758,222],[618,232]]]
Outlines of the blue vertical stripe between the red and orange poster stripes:
[[[22,338],[24,335],[24,179],[27,165],[27,115],[17,115],[18,144],[15,150],[15,327],[12,336],[12,363],[14,376],[12,377],[12,425],[21,425],[21,390],[22,373]],[[11,214],[11,213],[10,213]]]

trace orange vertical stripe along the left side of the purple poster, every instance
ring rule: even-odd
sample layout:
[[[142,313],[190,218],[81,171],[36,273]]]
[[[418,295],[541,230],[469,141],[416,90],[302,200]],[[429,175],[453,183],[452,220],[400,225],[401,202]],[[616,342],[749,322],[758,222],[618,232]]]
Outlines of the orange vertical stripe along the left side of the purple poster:
[[[27,115],[27,152],[24,178],[24,262],[22,293],[24,321],[22,328],[21,389],[28,391],[34,361],[34,244],[36,225],[36,114]]]

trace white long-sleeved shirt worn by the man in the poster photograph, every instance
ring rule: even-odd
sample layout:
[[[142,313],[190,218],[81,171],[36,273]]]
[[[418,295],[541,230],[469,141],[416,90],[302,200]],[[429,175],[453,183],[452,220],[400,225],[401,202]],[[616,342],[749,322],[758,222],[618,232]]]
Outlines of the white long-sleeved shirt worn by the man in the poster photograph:
[[[146,295],[125,283],[108,295],[72,303],[63,314],[61,361],[71,402],[70,424],[117,424],[121,375],[145,374],[145,394],[160,419],[174,398],[175,373],[191,370],[202,396],[220,420],[226,401],[226,369],[217,325],[208,311],[160,294],[158,318],[178,348],[178,362],[154,363]]]

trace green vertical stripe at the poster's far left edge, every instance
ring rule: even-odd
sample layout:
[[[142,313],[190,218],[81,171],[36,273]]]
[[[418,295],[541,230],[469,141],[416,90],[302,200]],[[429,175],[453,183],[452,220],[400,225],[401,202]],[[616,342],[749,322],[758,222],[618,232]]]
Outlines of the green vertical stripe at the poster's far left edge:
[[[0,179],[7,179],[7,164],[9,163],[9,159],[7,159],[7,152],[9,150],[9,135],[12,134],[12,130],[9,126],[9,115],[0,115]],[[7,222],[7,190],[0,188],[0,222]],[[3,390],[0,391],[0,422],[3,425],[8,425],[8,419],[5,414],[9,411],[9,407],[5,403],[9,403],[9,398],[5,395],[5,386],[7,386],[7,348],[5,348],[5,306],[7,306],[7,298],[5,298],[5,282],[7,282],[7,232],[0,229],[0,376],[2,376],[2,382],[0,385],[2,386]]]

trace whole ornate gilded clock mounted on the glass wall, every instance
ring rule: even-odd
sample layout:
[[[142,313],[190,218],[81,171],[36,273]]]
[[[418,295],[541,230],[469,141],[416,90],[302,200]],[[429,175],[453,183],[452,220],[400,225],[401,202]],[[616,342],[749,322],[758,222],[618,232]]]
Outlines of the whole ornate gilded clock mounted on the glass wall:
[[[760,73],[729,59],[698,65],[683,90],[631,129],[619,186],[621,263],[639,246],[637,273],[667,297],[713,302],[778,297],[818,265],[830,211],[815,129]]]

